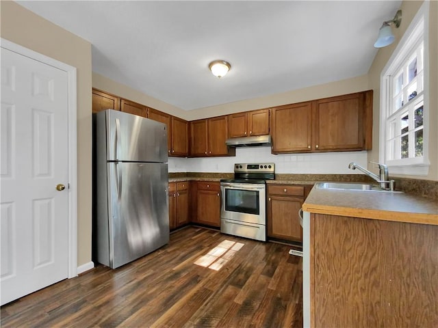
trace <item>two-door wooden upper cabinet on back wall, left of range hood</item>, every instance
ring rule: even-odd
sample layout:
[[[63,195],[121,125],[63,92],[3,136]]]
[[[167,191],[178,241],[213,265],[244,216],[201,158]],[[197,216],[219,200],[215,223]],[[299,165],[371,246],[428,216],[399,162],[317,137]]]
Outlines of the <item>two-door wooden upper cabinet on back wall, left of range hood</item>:
[[[227,116],[190,122],[190,156],[231,156],[227,139]]]

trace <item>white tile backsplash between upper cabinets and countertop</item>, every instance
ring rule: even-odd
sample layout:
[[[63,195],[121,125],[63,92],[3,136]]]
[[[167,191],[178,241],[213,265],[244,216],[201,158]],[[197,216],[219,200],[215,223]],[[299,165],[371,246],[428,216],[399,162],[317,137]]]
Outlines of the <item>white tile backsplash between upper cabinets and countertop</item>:
[[[234,163],[275,163],[279,174],[361,174],[348,169],[350,162],[367,166],[367,152],[271,154],[269,146],[236,148],[235,156],[185,159],[169,157],[169,172],[233,172]]]

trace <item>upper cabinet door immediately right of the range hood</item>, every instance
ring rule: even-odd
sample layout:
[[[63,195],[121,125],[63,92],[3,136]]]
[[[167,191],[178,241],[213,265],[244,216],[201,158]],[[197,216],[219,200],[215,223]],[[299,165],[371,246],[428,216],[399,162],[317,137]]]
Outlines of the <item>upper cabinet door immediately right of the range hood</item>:
[[[272,109],[272,153],[311,150],[311,102]]]

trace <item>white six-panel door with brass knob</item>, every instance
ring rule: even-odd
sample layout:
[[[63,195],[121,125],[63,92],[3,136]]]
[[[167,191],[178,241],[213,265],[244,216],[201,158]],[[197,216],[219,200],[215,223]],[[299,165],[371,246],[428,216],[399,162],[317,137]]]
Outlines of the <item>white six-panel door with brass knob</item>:
[[[68,276],[67,87],[1,48],[1,305]]]

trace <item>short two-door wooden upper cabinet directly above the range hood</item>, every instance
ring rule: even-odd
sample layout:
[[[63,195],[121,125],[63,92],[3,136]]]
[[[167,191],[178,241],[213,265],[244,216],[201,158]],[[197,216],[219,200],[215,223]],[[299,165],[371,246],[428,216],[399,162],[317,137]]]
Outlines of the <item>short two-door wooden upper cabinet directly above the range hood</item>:
[[[228,115],[228,137],[269,134],[269,109]]]

